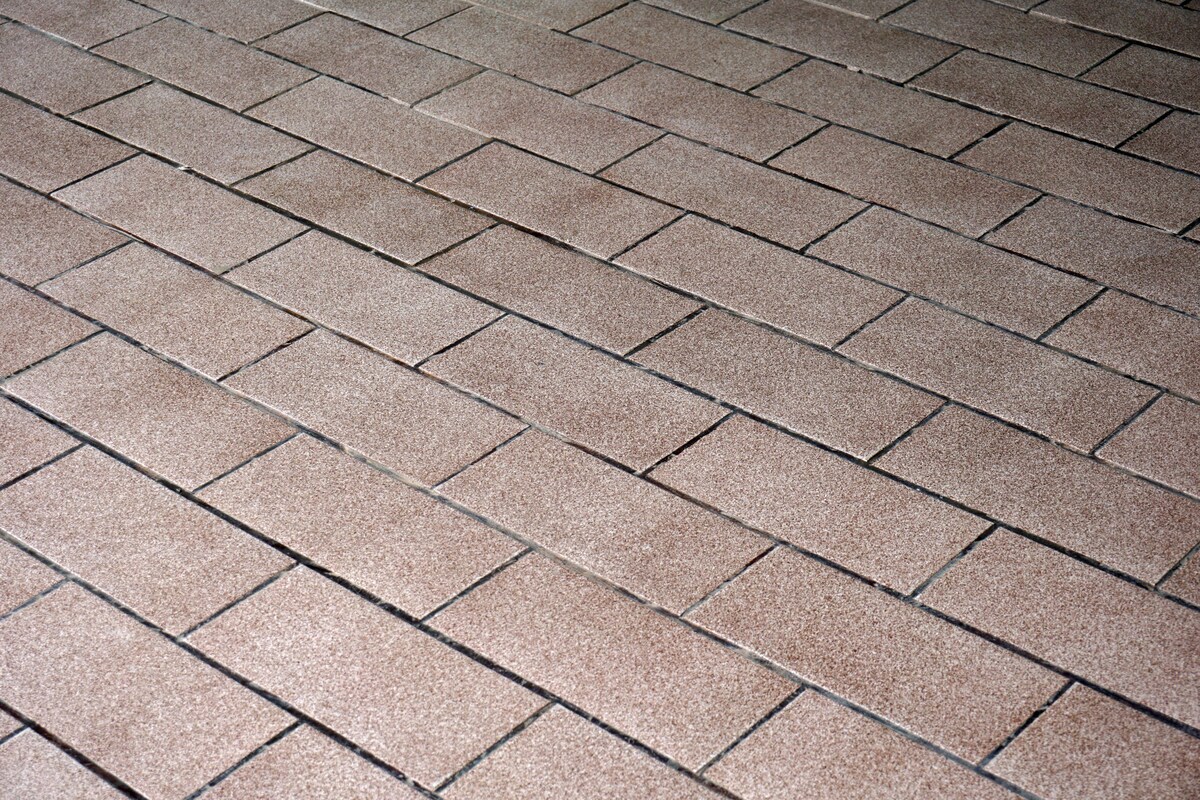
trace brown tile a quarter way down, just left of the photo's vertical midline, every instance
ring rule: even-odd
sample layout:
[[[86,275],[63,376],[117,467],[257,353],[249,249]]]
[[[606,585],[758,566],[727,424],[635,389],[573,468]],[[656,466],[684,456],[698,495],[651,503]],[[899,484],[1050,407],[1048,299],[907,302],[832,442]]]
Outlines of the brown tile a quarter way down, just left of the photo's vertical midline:
[[[661,203],[499,143],[421,184],[601,258],[679,216]]]

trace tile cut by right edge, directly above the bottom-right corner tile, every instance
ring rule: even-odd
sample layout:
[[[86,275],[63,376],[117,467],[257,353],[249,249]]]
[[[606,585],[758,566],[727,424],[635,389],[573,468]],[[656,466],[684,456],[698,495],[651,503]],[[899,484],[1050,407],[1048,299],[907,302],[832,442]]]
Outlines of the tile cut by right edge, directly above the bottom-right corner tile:
[[[922,602],[1085,680],[1195,726],[1194,612],[1001,530]]]

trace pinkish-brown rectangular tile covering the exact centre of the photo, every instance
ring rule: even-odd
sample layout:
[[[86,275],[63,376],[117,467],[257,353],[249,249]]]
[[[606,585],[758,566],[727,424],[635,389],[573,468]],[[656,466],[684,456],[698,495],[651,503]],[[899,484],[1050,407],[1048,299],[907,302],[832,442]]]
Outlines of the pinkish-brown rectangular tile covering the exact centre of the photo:
[[[426,367],[514,414],[643,469],[722,410],[665,380],[508,317]]]

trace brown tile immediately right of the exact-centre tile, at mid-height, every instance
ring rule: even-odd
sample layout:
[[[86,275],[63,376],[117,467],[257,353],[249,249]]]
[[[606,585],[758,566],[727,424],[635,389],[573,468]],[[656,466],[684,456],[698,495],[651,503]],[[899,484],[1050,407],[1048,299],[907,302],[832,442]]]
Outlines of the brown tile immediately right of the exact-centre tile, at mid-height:
[[[636,360],[752,414],[866,458],[941,401],[826,350],[707,311]]]

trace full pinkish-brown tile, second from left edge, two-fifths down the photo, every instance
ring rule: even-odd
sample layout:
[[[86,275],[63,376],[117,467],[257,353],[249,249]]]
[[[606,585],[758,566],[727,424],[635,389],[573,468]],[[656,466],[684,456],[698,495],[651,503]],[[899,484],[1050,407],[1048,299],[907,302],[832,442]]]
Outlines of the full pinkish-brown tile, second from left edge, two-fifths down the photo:
[[[138,243],[67,272],[42,290],[210,378],[311,327]]]

